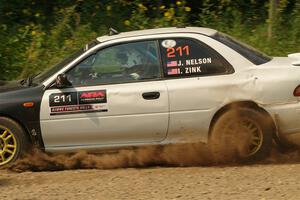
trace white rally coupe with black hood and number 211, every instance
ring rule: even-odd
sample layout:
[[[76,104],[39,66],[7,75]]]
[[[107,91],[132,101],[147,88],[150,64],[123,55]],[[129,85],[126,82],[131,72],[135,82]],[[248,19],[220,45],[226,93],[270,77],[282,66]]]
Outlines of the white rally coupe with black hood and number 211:
[[[2,83],[0,165],[30,146],[214,139],[242,144],[241,159],[261,159],[272,141],[300,144],[299,84],[299,54],[272,58],[216,30],[111,30],[35,77]]]

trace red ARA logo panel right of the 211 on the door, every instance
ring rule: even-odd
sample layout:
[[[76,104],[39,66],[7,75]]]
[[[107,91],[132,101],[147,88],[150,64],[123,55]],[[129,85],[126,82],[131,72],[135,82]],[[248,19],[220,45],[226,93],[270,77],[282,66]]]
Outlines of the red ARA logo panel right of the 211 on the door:
[[[79,92],[79,104],[107,103],[106,90]]]

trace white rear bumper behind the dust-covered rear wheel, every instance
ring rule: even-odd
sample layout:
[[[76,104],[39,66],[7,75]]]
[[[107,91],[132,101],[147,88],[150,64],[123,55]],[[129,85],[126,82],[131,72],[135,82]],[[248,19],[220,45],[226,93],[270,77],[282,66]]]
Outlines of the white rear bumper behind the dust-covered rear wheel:
[[[278,138],[300,146],[300,102],[265,107],[272,115]]]

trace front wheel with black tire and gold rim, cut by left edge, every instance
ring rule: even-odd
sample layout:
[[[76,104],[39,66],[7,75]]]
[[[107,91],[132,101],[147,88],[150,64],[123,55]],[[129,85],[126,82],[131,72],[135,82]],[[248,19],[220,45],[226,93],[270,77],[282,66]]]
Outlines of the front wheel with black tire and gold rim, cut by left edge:
[[[0,117],[0,167],[16,161],[29,148],[29,139],[24,129],[14,120]]]

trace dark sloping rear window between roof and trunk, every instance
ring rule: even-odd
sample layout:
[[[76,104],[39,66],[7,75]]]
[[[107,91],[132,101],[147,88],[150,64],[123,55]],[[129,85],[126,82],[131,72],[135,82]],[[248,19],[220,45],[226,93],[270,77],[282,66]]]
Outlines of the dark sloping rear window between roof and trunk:
[[[237,41],[224,33],[216,33],[212,38],[235,50],[255,65],[261,65],[272,60],[272,57],[269,57],[257,49]]]

